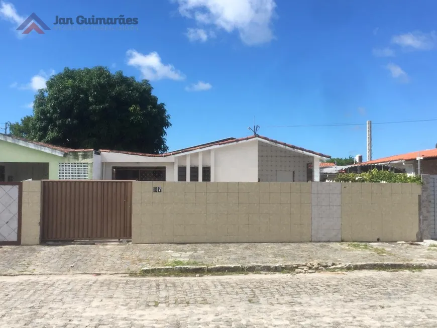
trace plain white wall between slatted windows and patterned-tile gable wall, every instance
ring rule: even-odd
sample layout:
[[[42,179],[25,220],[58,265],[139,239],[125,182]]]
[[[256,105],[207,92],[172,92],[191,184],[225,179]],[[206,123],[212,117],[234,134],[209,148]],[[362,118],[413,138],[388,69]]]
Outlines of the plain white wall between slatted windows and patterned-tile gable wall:
[[[216,148],[214,162],[216,182],[257,182],[258,141]]]

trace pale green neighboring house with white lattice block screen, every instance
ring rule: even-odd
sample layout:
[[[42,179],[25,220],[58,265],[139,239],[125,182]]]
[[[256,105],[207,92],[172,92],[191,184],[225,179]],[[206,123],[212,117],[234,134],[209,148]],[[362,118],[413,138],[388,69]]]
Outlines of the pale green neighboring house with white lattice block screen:
[[[92,179],[99,153],[0,134],[0,181]],[[94,173],[95,173],[94,172]]]

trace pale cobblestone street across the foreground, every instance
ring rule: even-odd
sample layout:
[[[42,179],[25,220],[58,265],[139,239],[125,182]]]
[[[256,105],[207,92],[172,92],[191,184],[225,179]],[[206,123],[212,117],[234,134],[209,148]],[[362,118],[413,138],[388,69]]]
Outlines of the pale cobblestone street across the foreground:
[[[435,327],[437,270],[0,277],[0,328]]]

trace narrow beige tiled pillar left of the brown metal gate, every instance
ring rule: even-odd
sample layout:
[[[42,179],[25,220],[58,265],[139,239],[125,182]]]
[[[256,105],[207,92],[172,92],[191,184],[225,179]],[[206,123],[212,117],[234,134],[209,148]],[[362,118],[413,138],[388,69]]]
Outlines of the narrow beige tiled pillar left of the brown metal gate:
[[[21,244],[40,243],[41,181],[23,181]]]

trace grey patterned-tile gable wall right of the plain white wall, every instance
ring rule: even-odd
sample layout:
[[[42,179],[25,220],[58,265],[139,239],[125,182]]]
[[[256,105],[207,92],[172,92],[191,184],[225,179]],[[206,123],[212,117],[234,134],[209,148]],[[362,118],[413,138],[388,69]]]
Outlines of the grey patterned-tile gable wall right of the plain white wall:
[[[294,171],[295,182],[307,182],[306,164],[312,163],[313,157],[293,152],[282,147],[258,142],[258,174],[260,182],[280,181],[284,172]],[[278,176],[278,171],[281,172]]]

